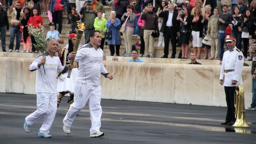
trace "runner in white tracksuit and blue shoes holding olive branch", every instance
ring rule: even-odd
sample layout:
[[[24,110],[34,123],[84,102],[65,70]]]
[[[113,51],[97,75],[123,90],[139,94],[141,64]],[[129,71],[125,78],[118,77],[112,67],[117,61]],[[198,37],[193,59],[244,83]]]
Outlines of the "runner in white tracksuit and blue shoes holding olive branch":
[[[37,119],[44,117],[38,137],[52,137],[49,135],[52,122],[57,111],[57,73],[65,73],[69,68],[73,68],[70,64],[63,67],[55,52],[58,49],[58,41],[52,39],[50,45],[45,52],[45,58],[39,54],[30,65],[30,71],[37,71],[36,74],[36,93],[37,93],[37,110],[25,118],[23,129],[29,133],[30,126]],[[44,68],[45,67],[45,73]]]

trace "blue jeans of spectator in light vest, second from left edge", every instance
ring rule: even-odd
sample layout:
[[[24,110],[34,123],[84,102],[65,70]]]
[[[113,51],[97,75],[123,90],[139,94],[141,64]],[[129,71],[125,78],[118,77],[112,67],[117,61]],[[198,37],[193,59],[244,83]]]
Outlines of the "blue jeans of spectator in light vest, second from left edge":
[[[9,50],[13,50],[13,43],[14,43],[15,34],[16,34],[15,50],[20,49],[20,39],[21,39],[22,32],[20,31],[20,27],[11,26],[11,38],[10,38]]]

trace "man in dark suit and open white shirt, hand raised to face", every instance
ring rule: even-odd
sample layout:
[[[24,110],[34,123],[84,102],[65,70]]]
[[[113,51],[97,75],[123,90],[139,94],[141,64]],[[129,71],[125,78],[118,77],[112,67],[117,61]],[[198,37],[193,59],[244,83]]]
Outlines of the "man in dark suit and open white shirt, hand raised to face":
[[[176,37],[180,29],[180,23],[177,20],[178,12],[173,11],[173,8],[173,4],[168,4],[168,7],[165,6],[163,11],[159,14],[159,17],[163,17],[163,25],[160,32],[163,32],[165,42],[164,55],[161,58],[168,58],[170,39],[173,48],[171,58],[175,58],[176,54]]]

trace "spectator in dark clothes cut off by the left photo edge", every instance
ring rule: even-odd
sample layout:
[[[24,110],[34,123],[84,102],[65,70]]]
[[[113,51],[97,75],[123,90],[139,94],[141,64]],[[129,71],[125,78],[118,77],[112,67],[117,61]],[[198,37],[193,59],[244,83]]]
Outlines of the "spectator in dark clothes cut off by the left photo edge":
[[[4,11],[2,7],[2,3],[0,3],[0,33],[2,37],[2,50],[6,52],[6,30],[9,31],[9,21],[7,17],[6,11]]]

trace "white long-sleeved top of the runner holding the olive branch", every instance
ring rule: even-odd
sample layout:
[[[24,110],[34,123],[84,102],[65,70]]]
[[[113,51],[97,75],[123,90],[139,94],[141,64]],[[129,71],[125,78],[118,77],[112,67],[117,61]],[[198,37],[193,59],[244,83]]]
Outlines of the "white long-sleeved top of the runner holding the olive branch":
[[[33,63],[29,67],[30,71],[37,70],[35,86],[36,92],[57,94],[57,73],[63,74],[68,70],[68,68],[67,66],[63,67],[61,65],[61,61],[59,60],[58,56],[54,56],[53,58],[51,58],[48,52],[45,52],[44,54],[46,56],[45,72],[43,65],[41,65],[40,68],[37,67],[37,64],[43,58],[42,54],[37,55],[37,57],[35,57]]]

